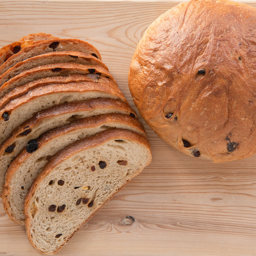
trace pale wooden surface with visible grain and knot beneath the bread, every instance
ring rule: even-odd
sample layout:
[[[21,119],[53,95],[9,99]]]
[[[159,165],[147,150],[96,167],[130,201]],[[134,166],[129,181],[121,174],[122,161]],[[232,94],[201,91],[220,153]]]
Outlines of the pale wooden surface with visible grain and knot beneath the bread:
[[[147,26],[178,3],[0,1],[0,47],[37,32],[86,40],[134,107],[127,77],[135,47]],[[152,163],[56,255],[256,255],[256,155],[211,164],[174,150],[140,120]],[[24,226],[8,219],[2,202],[0,240],[0,255],[42,255]]]

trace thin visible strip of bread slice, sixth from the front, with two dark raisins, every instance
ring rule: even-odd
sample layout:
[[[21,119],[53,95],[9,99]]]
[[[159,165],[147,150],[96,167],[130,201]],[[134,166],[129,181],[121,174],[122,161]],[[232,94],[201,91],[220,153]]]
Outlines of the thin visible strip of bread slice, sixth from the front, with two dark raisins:
[[[90,73],[110,78],[116,83],[111,74],[106,69],[98,65],[81,65],[79,63],[55,63],[28,69],[14,76],[0,87],[0,98],[14,88],[39,78],[67,76],[68,74]]]

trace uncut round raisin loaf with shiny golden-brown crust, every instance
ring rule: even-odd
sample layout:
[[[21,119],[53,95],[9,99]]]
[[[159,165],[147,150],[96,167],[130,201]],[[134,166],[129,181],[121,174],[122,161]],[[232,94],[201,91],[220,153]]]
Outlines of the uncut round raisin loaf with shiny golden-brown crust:
[[[134,53],[129,88],[147,124],[212,162],[256,152],[256,9],[192,0],[158,17]]]

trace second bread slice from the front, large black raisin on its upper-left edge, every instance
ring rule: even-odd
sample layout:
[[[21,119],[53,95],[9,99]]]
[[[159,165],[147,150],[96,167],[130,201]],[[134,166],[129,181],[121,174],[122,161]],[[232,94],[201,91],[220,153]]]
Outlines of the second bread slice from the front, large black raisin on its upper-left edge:
[[[18,224],[25,224],[25,196],[50,156],[76,140],[94,136],[111,128],[128,129],[146,137],[140,121],[130,115],[112,113],[78,119],[47,131],[36,140],[28,142],[10,164],[5,177],[2,199],[9,218]],[[126,165],[126,162],[120,162],[119,165]]]

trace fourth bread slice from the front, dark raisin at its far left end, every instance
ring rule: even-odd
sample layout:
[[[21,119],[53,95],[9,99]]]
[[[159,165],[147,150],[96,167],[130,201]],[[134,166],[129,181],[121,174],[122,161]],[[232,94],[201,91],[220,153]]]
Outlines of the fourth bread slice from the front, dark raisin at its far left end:
[[[73,82],[50,84],[29,91],[14,99],[0,111],[0,143],[13,129],[33,116],[34,113],[58,104],[91,98],[112,98],[128,103],[123,93],[109,78],[102,77],[101,83]]]

